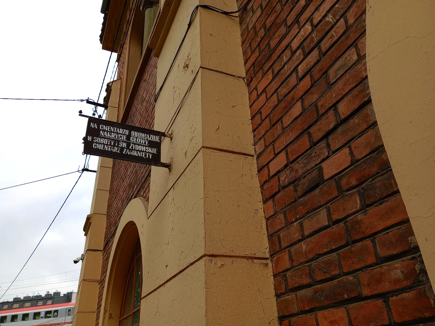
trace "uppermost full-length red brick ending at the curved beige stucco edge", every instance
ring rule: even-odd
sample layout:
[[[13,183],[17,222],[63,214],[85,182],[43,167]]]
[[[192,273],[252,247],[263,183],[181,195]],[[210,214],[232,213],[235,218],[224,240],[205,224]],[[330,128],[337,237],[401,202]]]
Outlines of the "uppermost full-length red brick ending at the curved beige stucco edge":
[[[331,66],[342,53],[365,32],[365,15],[358,18],[357,22],[348,30],[348,32],[332,47],[328,53],[318,63],[313,71],[314,80],[318,80],[323,73]]]

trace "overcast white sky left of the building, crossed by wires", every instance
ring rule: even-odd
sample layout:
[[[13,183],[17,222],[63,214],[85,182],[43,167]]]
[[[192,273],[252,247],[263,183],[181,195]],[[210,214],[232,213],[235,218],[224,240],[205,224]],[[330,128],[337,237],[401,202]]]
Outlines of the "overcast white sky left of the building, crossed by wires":
[[[103,21],[100,6],[101,0],[0,1],[0,97],[97,100],[110,54],[101,50],[99,41]],[[113,64],[114,60],[107,81]],[[87,119],[78,116],[79,110],[90,115],[92,106],[0,100],[0,188],[83,167],[82,137]],[[93,157],[89,167],[95,169],[96,163]],[[0,190],[0,296],[30,256],[78,176],[73,173]],[[77,291],[81,263],[74,264],[73,259],[83,252],[83,224],[89,214],[94,180],[95,173],[90,172],[80,178],[18,276],[17,280],[24,281],[14,283],[0,301],[45,291]],[[61,274],[52,275],[57,273]]]

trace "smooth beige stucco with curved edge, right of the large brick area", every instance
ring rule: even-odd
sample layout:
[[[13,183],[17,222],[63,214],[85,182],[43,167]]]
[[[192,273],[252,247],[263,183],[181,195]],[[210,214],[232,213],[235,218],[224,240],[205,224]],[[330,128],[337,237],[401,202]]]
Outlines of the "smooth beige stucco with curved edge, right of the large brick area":
[[[368,0],[367,66],[385,149],[435,285],[435,2]]]

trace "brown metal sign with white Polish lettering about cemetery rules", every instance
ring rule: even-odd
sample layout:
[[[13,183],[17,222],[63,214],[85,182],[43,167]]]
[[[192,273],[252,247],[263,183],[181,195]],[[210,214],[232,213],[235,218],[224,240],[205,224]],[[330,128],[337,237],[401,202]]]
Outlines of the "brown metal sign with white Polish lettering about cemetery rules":
[[[83,153],[168,167],[161,162],[161,140],[167,134],[88,117]]]

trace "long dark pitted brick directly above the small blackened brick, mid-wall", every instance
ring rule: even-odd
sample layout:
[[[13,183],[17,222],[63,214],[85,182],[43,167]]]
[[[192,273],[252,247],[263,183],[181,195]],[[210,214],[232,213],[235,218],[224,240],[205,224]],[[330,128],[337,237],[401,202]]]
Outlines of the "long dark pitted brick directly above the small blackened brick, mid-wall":
[[[301,156],[293,164],[290,164],[290,166],[279,174],[281,185],[284,186],[292,183],[294,180],[298,179],[299,176],[324,160],[327,156],[327,143],[326,141],[323,141]]]

